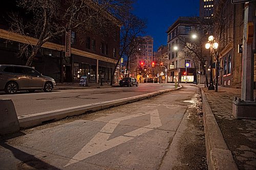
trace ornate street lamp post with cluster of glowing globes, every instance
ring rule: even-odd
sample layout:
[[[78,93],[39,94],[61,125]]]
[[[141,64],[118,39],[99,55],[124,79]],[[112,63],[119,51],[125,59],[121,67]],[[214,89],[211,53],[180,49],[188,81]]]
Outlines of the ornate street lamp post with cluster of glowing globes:
[[[214,36],[209,36],[208,37],[208,42],[205,44],[205,48],[206,49],[213,49],[214,50],[214,53],[216,55],[216,52],[215,50],[218,48],[219,44],[217,42],[214,41]],[[216,56],[216,59],[217,59],[217,56]],[[217,63],[217,66],[218,67],[218,63]],[[218,69],[216,69],[216,71],[218,71]],[[216,76],[218,76],[218,74],[216,74]],[[218,81],[218,78],[216,78],[216,81]],[[214,90],[215,87],[214,87],[214,83],[213,83],[213,80],[212,80],[212,56],[210,57],[210,85],[208,87],[208,90]],[[216,90],[218,90],[218,82],[216,82]]]

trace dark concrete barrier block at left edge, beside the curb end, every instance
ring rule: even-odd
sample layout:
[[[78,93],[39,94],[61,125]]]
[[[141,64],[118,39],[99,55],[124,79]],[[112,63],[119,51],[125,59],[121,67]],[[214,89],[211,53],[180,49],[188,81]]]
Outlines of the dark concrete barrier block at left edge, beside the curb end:
[[[19,131],[19,122],[11,99],[0,99],[0,135]]]

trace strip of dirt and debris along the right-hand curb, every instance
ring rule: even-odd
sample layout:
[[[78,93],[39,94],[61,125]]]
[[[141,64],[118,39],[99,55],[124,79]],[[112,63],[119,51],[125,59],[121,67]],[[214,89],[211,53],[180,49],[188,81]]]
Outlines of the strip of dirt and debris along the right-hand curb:
[[[192,105],[189,105],[186,110],[187,128],[179,141],[181,162],[187,165],[182,169],[207,169],[202,98],[199,90],[190,101]],[[181,167],[175,169],[181,169]]]

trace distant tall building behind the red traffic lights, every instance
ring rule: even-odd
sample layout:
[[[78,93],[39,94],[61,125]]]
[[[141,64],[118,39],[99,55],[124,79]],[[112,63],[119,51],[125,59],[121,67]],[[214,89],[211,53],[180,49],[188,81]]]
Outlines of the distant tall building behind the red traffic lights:
[[[143,37],[145,43],[140,49],[141,54],[131,56],[130,72],[132,77],[142,81],[145,76],[152,77],[152,62],[153,62],[153,38],[151,36]]]

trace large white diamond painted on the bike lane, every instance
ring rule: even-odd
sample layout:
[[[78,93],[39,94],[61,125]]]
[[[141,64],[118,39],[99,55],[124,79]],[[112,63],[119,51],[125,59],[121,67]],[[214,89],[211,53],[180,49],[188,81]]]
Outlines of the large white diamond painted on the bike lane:
[[[150,125],[147,125],[145,127],[125,133],[122,136],[118,136],[108,140],[111,134],[114,132],[115,128],[120,124],[122,120],[139,117],[146,114],[150,114]],[[86,158],[89,158],[93,155],[104,152],[106,150],[109,150],[111,148],[114,148],[119,144],[132,140],[135,137],[150,132],[153,129],[158,128],[160,126],[162,126],[162,123],[157,109],[145,113],[133,114],[129,116],[112,119],[64,167],[84,160]]]

